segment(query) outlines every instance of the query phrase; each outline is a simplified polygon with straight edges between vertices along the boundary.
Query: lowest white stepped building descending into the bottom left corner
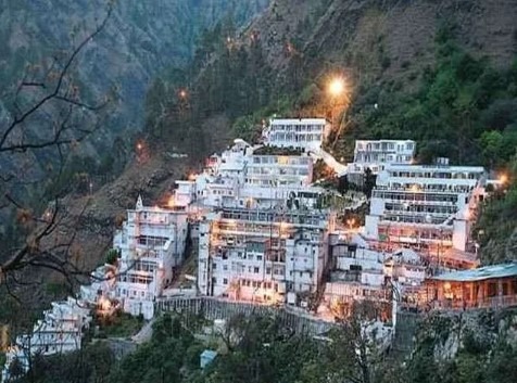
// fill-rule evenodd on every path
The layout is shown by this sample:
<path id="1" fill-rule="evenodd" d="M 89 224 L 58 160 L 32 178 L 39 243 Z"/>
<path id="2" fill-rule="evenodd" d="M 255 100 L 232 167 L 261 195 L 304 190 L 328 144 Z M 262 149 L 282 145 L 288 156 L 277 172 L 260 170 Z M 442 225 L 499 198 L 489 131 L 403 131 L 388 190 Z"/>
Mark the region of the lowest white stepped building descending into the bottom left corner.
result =
<path id="1" fill-rule="evenodd" d="M 10 367 L 17 360 L 24 372 L 37 355 L 54 355 L 80 349 L 83 332 L 91 321 L 90 310 L 84 303 L 68 297 L 53 302 L 52 309 L 43 311 L 43 318 L 34 325 L 30 334 L 20 335 L 5 354 L 2 382 L 10 378 Z"/>

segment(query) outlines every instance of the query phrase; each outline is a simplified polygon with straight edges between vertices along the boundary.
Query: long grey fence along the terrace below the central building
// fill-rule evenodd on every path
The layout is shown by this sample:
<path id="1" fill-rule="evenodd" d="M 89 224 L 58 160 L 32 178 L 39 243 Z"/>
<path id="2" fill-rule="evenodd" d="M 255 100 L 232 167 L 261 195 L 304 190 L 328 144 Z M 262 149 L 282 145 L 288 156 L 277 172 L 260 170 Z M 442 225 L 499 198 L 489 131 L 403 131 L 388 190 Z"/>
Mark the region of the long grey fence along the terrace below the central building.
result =
<path id="1" fill-rule="evenodd" d="M 317 319 L 295 308 L 265 306 L 245 302 L 235 302 L 207 296 L 176 297 L 161 299 L 155 303 L 155 312 L 175 311 L 199 315 L 210 320 L 229 319 L 236 315 L 276 316 L 283 325 L 297 332 L 319 335 L 335 324 Z"/>

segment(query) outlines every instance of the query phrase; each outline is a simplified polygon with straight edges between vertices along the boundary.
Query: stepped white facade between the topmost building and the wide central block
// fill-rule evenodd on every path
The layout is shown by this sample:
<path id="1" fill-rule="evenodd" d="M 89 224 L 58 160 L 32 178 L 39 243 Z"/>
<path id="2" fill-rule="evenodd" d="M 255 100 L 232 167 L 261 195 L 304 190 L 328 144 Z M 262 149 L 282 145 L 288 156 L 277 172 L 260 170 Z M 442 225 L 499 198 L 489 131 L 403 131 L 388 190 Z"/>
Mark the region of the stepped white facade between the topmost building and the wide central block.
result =
<path id="1" fill-rule="evenodd" d="M 317 205 L 325 191 L 311 187 L 311 156 L 255 154 L 256 149 L 236 142 L 220 156 L 209 158 L 194 186 L 177 182 L 176 196 L 185 201 L 193 197 L 206 207 L 274 208 L 285 206 L 288 200 L 294 207 Z"/>

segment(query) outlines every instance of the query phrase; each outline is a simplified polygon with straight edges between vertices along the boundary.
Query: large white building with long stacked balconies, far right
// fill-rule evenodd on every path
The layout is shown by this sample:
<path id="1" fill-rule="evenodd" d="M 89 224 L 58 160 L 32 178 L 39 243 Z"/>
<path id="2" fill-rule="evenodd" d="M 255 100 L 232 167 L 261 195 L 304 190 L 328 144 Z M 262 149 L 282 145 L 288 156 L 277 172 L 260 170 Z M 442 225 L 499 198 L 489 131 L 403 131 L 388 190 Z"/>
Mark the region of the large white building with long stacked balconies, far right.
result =
<path id="1" fill-rule="evenodd" d="M 484 169 L 474 166 L 388 165 L 377 178 L 365 235 L 427 250 L 467 251 L 476 207 L 484 196 Z"/>

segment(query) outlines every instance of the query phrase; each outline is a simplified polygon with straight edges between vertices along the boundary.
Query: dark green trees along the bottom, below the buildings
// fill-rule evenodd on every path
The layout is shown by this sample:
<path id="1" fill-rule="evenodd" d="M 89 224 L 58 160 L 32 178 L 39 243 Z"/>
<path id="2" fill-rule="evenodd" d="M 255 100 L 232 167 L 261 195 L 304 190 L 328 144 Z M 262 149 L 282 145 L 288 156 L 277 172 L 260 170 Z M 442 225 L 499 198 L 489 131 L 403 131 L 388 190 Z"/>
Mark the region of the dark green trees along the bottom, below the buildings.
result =
<path id="1" fill-rule="evenodd" d="M 37 358 L 31 373 L 15 383 L 515 382 L 517 349 L 503 336 L 467 332 L 457 354 L 439 360 L 436 347 L 450 322 L 431 318 L 421 327 L 414 354 L 401 363 L 396 355 L 378 354 L 364 336 L 360 320 L 365 312 L 356 311 L 355 319 L 323 337 L 293 333 L 274 317 L 242 316 L 228 322 L 231 331 L 224 336 L 200 337 L 201 318 L 190 318 L 187 327 L 185 317 L 166 314 L 154 323 L 151 341 L 122 359 L 98 342 L 74 354 Z M 218 355 L 201 369 L 204 349 Z"/>

